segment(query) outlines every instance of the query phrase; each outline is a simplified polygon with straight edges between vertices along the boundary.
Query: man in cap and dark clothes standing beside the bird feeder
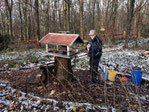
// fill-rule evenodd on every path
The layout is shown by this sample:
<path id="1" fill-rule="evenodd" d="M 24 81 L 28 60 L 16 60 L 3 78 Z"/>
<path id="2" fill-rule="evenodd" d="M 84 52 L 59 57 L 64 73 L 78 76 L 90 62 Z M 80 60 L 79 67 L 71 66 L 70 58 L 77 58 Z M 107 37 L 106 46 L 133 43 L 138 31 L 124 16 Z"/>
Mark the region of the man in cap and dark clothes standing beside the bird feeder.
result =
<path id="1" fill-rule="evenodd" d="M 102 56 L 102 40 L 97 36 L 96 30 L 90 30 L 90 39 L 87 44 L 87 50 L 90 57 L 91 82 L 96 83 L 98 65 Z"/>

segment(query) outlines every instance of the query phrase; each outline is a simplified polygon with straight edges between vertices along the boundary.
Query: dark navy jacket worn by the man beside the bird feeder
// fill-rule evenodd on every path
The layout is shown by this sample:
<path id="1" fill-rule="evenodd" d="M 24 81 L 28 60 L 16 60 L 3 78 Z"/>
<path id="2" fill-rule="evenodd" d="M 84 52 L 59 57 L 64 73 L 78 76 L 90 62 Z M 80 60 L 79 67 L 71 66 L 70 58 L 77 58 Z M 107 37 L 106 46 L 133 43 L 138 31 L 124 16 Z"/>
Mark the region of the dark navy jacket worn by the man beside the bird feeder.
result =
<path id="1" fill-rule="evenodd" d="M 102 56 L 102 40 L 96 35 L 93 40 L 89 39 L 88 44 L 91 45 L 89 56 L 91 58 L 100 58 Z"/>

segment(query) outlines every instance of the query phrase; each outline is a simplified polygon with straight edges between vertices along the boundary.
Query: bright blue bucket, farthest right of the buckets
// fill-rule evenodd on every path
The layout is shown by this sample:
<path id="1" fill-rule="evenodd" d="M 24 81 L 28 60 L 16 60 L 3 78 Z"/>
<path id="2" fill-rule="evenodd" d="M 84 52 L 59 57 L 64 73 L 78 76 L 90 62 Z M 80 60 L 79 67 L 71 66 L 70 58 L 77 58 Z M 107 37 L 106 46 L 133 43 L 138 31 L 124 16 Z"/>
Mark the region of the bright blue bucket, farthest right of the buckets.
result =
<path id="1" fill-rule="evenodd" d="M 133 69 L 131 71 L 131 83 L 140 85 L 142 82 L 142 71 L 141 69 Z"/>

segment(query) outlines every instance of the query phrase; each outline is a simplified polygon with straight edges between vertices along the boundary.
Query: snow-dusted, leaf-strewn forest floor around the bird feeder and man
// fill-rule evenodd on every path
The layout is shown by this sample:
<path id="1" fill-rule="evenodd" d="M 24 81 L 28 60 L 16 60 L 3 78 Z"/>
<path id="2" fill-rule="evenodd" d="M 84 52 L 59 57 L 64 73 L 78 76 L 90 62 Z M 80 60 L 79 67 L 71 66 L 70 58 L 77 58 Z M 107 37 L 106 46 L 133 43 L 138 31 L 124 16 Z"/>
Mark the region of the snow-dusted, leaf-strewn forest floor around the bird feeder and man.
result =
<path id="1" fill-rule="evenodd" d="M 62 84 L 50 77 L 45 87 L 34 77 L 42 73 L 39 66 L 53 61 L 44 50 L 2 52 L 0 110 L 102 112 L 111 109 L 113 112 L 149 112 L 149 39 L 140 41 L 137 48 L 132 47 L 134 41 L 129 43 L 129 49 L 122 49 L 122 45 L 105 46 L 99 66 L 123 74 L 131 74 L 132 67 L 138 66 L 142 68 L 142 77 L 146 80 L 140 86 L 132 84 L 130 77 L 121 82 L 121 75 L 117 75 L 115 81 L 111 82 L 101 79 L 100 74 L 97 84 L 91 84 L 89 59 L 85 53 L 81 53 L 72 60 L 73 75 L 77 79 L 75 82 Z"/>

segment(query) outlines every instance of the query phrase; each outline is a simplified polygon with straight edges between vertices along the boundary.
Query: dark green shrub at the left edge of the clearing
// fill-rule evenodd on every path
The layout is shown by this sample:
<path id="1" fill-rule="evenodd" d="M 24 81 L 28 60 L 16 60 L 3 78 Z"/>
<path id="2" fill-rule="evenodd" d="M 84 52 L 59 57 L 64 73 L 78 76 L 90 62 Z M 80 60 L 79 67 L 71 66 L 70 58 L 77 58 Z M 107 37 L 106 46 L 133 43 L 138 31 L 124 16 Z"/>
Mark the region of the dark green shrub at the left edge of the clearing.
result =
<path id="1" fill-rule="evenodd" d="M 10 42 L 9 35 L 0 34 L 0 50 L 7 49 L 9 42 Z"/>

